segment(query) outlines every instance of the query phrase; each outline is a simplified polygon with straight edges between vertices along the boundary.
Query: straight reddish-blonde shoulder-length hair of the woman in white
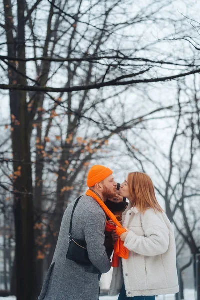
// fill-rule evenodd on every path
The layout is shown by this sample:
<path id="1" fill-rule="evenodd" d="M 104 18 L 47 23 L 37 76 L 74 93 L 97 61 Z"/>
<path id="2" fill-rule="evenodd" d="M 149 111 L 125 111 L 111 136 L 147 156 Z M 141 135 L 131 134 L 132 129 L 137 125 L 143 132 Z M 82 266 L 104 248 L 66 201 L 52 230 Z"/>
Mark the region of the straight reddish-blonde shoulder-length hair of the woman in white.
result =
<path id="1" fill-rule="evenodd" d="M 133 197 L 133 206 L 136 206 L 142 213 L 149 208 L 153 208 L 155 212 L 156 210 L 163 212 L 156 199 L 153 182 L 147 174 L 132 172 L 128 174 L 127 179 L 129 191 Z"/>

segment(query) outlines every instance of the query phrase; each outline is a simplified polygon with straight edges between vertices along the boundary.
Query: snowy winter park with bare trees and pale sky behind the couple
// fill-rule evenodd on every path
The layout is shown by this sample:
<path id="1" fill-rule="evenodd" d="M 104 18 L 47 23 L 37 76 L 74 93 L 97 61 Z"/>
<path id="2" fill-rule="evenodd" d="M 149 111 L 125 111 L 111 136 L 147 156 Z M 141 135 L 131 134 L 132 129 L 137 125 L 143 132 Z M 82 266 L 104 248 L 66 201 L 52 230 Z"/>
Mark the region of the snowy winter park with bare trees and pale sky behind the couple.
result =
<path id="1" fill-rule="evenodd" d="M 199 8 L 0 0 L 0 297 L 37 299 L 64 210 L 103 164 L 150 175 L 174 226 L 180 292 L 157 299 L 200 299 Z"/>

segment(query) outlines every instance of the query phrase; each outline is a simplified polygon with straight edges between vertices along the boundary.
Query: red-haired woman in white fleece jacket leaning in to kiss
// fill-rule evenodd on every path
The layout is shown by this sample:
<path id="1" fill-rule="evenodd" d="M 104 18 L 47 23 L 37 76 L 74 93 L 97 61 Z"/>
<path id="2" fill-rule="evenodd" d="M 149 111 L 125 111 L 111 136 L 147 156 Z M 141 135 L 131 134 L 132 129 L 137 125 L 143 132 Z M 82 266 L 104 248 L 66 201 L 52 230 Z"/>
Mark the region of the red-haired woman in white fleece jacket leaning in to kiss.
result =
<path id="1" fill-rule="evenodd" d="M 126 232 L 119 237 L 129 256 L 113 269 L 110 295 L 120 292 L 118 300 L 155 300 L 155 295 L 177 293 L 174 232 L 150 177 L 129 173 L 120 194 L 130 201 L 122 214 Z"/>

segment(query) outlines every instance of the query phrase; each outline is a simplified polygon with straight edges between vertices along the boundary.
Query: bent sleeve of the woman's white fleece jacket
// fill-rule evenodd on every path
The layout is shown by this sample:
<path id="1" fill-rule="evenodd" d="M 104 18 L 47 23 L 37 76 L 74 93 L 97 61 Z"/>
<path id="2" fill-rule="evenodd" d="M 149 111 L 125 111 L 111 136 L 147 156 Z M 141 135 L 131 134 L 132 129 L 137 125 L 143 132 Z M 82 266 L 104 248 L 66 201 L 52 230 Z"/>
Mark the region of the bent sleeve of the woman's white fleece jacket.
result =
<path id="1" fill-rule="evenodd" d="M 130 228 L 124 246 L 140 255 L 155 256 L 165 253 L 169 247 L 169 229 L 154 211 L 146 211 L 142 219 L 144 236 L 134 233 Z"/>

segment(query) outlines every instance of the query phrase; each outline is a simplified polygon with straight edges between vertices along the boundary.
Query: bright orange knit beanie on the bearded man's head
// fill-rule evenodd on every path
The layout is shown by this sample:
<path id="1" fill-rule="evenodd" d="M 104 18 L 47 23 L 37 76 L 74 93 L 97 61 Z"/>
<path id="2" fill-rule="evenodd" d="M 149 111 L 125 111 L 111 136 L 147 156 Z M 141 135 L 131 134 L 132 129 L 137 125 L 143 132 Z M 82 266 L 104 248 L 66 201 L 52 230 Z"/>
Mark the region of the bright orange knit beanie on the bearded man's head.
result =
<path id="1" fill-rule="evenodd" d="M 97 182 L 104 180 L 112 173 L 112 170 L 108 167 L 103 165 L 93 165 L 87 175 L 87 186 L 94 186 Z"/>

